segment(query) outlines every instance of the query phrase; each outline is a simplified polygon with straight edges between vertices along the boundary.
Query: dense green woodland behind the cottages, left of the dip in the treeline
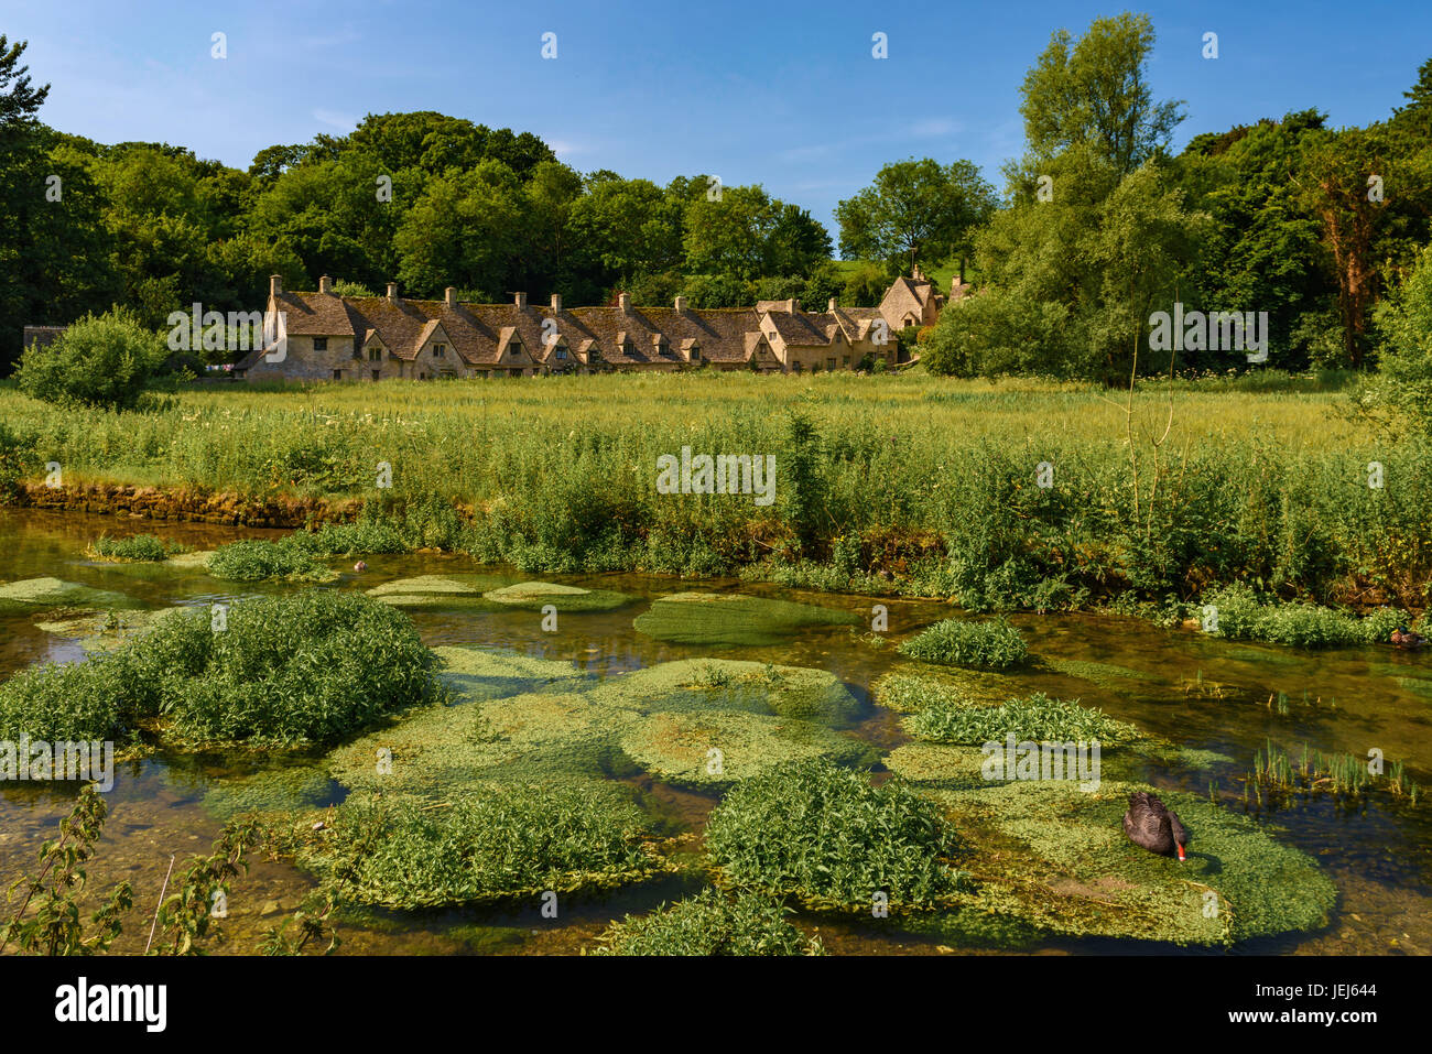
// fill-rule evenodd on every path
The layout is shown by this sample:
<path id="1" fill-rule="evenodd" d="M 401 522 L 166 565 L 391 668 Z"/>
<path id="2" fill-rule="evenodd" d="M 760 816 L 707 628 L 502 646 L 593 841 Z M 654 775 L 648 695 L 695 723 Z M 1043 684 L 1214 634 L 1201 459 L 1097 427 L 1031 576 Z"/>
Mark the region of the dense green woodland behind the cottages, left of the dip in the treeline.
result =
<path id="1" fill-rule="evenodd" d="M 26 324 L 120 306 L 160 327 L 200 301 L 262 304 L 269 274 L 344 289 L 569 304 L 687 295 L 693 306 L 835 295 L 874 302 L 831 264 L 826 229 L 760 186 L 666 186 L 580 173 L 537 136 L 441 113 L 369 115 L 347 136 L 259 150 L 246 172 L 182 146 L 96 143 L 40 123 L 47 87 L 0 37 L 0 369 Z M 884 289 L 884 286 L 881 286 Z"/>

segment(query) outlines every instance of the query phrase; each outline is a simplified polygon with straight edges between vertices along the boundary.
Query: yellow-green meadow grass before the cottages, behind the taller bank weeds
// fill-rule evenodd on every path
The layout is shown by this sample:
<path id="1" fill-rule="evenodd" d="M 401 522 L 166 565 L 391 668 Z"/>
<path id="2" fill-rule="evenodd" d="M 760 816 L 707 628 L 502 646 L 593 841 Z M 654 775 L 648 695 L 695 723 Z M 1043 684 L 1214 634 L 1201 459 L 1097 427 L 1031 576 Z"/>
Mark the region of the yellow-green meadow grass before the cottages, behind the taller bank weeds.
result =
<path id="1" fill-rule="evenodd" d="M 1224 391 L 1216 382 L 1173 394 L 1169 447 L 1220 448 L 1257 437 L 1295 451 L 1362 448 L 1335 407 L 1336 392 Z M 36 432 L 43 460 L 77 478 L 238 491 L 294 485 L 345 491 L 318 451 L 387 455 L 421 465 L 451 494 L 483 488 L 490 467 L 526 444 L 600 437 L 619 447 L 779 450 L 785 410 L 800 408 L 822 434 L 876 434 L 921 461 L 981 438 L 1038 448 L 1120 447 L 1126 395 L 1088 385 L 906 377 L 752 377 L 748 374 L 607 375 L 495 381 L 384 381 L 251 390 L 241 384 L 185 391 L 168 410 L 105 414 L 57 410 L 0 388 L 0 418 Z M 1136 418 L 1158 424 L 1169 395 L 1141 391 Z M 308 451 L 308 454 L 304 454 Z M 286 471 L 289 463 L 301 471 Z M 338 470 L 334 464 L 329 468 Z M 357 484 L 355 485 L 361 485 Z"/>

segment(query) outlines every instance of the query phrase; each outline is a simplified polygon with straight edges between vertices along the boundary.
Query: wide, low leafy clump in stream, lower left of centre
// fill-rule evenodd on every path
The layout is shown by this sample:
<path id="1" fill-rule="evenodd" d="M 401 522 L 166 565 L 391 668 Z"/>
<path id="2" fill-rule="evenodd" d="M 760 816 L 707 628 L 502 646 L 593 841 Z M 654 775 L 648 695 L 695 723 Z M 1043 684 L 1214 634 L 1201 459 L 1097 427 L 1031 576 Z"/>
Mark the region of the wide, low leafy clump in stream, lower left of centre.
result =
<path id="1" fill-rule="evenodd" d="M 351 895 L 385 908 L 497 904 L 610 889 L 662 869 L 642 812 L 603 783 L 475 783 L 441 802 L 349 798 L 298 848 L 331 878 L 364 845 Z"/>

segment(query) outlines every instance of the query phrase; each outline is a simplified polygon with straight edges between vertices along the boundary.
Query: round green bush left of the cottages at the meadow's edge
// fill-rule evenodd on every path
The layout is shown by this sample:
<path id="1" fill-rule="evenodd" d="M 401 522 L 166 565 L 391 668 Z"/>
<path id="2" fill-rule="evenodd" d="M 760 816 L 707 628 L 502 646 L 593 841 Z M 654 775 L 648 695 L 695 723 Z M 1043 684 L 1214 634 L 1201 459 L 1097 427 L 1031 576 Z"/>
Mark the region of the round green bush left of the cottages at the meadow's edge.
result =
<path id="1" fill-rule="evenodd" d="M 20 390 L 46 402 L 133 410 L 168 358 L 159 334 L 126 312 L 86 315 L 49 347 L 20 357 Z"/>

